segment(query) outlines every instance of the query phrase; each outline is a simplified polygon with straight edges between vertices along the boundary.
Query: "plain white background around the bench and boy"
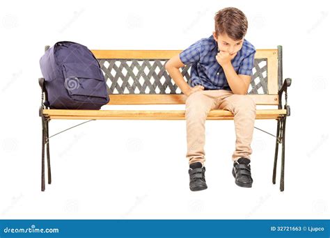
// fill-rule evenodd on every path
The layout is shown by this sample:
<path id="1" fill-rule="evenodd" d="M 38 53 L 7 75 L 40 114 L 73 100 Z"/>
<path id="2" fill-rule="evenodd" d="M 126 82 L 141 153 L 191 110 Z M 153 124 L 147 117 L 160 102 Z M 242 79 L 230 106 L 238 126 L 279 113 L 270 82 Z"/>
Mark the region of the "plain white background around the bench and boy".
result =
<path id="1" fill-rule="evenodd" d="M 1 219 L 329 219 L 327 1 L 0 4 Z M 53 184 L 40 191 L 38 77 L 45 45 L 70 40 L 89 49 L 185 49 L 210 36 L 214 14 L 228 6 L 246 14 L 246 39 L 257 49 L 283 45 L 283 76 L 292 78 L 284 192 L 279 169 L 272 184 L 275 140 L 258 130 L 251 145 L 253 188 L 235 185 L 233 121 L 206 122 L 209 188 L 191 192 L 184 120 L 98 120 L 55 136 Z M 50 135 L 78 122 L 52 120 Z M 256 127 L 276 133 L 275 120 L 257 120 Z"/>

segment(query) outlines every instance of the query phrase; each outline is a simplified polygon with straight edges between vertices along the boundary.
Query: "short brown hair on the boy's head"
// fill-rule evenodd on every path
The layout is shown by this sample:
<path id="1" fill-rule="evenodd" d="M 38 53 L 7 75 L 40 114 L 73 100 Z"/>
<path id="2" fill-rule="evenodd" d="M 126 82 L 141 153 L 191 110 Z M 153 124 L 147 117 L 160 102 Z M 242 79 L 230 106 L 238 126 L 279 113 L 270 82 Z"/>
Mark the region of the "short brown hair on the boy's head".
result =
<path id="1" fill-rule="evenodd" d="M 233 40 L 244 38 L 248 28 L 246 16 L 237 8 L 223 8 L 215 17 L 215 33 L 217 35 L 226 33 Z"/>

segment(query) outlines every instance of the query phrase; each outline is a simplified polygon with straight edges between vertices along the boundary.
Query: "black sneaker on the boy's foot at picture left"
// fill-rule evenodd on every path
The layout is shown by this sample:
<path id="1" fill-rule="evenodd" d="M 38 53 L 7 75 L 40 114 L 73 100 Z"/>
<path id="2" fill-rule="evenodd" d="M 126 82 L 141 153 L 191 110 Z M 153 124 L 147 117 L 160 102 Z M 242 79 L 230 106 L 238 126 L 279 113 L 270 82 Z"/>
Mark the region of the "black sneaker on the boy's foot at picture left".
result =
<path id="1" fill-rule="evenodd" d="M 191 191 L 201 191 L 207 189 L 205 182 L 205 167 L 201 164 L 201 162 L 196 162 L 189 165 L 189 176 L 189 187 Z"/>

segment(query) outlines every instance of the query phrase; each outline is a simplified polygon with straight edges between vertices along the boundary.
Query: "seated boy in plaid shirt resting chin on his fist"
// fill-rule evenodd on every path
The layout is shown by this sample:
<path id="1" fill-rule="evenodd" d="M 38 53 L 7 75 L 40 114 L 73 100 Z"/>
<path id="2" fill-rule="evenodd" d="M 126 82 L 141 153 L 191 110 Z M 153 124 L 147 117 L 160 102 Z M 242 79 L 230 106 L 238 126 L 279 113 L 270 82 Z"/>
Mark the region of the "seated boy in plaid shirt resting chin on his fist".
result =
<path id="1" fill-rule="evenodd" d="M 205 119 L 213 109 L 234 114 L 236 144 L 233 176 L 239 187 L 252 187 L 250 155 L 256 103 L 247 90 L 256 49 L 244 39 L 248 22 L 237 8 L 223 8 L 215 17 L 215 31 L 173 56 L 166 70 L 187 96 L 187 159 L 191 191 L 207 189 L 205 182 Z M 191 63 L 191 85 L 180 68 Z M 223 138 L 224 139 L 224 138 Z M 220 145 L 221 146 L 221 145 Z"/>

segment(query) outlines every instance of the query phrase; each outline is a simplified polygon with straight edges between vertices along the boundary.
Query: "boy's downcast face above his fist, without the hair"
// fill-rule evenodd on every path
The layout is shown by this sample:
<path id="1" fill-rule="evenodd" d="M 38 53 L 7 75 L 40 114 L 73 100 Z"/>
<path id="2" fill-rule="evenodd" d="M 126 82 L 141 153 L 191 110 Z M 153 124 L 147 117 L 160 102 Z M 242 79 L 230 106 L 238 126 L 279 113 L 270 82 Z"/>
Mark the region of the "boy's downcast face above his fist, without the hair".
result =
<path id="1" fill-rule="evenodd" d="M 215 31 L 213 32 L 213 38 L 218 42 L 218 51 L 226 51 L 230 55 L 237 53 L 243 46 L 243 40 L 232 40 L 226 33 L 216 35 Z"/>

